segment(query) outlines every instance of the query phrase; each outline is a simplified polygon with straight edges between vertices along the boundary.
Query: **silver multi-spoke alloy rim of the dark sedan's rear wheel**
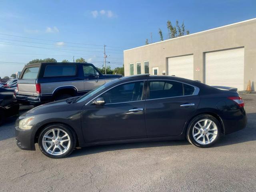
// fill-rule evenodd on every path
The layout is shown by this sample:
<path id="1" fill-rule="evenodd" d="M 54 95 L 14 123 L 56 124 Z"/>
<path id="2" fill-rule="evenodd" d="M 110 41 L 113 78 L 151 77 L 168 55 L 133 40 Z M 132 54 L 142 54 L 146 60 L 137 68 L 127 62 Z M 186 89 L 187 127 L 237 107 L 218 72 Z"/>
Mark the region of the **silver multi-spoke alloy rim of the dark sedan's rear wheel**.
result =
<path id="1" fill-rule="evenodd" d="M 196 142 L 207 145 L 216 139 L 218 128 L 212 120 L 202 119 L 194 125 L 192 134 Z"/>

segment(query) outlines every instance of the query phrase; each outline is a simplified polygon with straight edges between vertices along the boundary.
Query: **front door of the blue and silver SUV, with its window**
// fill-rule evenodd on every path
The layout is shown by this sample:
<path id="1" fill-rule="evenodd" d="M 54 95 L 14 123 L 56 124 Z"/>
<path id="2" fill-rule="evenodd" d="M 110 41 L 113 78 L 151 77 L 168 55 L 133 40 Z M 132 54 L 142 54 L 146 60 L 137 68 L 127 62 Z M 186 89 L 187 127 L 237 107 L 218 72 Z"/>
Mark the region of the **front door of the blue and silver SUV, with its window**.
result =
<path id="1" fill-rule="evenodd" d="M 97 71 L 91 65 L 84 65 L 84 91 L 90 91 L 105 83 L 104 78 L 98 77 Z"/>

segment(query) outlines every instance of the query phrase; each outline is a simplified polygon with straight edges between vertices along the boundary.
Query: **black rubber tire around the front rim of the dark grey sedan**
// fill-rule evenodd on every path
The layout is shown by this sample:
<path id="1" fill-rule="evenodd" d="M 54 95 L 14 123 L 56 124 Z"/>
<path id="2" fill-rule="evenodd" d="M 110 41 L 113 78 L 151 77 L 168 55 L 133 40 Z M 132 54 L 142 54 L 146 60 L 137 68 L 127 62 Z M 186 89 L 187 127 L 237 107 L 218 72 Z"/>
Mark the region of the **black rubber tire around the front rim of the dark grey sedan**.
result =
<path id="1" fill-rule="evenodd" d="M 60 155 L 52 155 L 52 154 L 49 154 L 48 152 L 46 152 L 46 150 L 44 149 L 43 147 L 43 136 L 46 132 L 48 132 L 49 130 L 51 129 L 60 129 L 60 130 L 64 130 L 69 138 L 70 138 L 70 147 L 68 148 L 68 150 L 66 150 L 66 152 L 64 152 L 64 154 L 60 154 Z M 68 155 L 70 155 L 72 153 L 72 151 L 74 150 L 74 148 L 76 147 L 76 136 L 75 136 L 75 133 L 66 125 L 63 125 L 63 124 L 51 124 L 51 125 L 48 125 L 46 126 L 39 134 L 38 136 L 38 145 L 39 145 L 39 148 L 41 150 L 41 152 L 50 157 L 50 158 L 54 158 L 54 159 L 59 159 L 59 158 L 64 158 Z M 53 145 L 54 146 L 54 145 Z"/>

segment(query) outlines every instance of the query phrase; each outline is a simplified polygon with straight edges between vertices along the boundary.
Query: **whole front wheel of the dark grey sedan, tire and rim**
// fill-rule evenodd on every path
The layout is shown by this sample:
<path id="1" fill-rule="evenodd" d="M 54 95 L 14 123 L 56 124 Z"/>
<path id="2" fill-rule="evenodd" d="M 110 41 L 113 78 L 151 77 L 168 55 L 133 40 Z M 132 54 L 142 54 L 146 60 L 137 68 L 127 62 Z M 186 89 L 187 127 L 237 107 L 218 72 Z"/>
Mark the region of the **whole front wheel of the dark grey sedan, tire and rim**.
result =
<path id="1" fill-rule="evenodd" d="M 50 158 L 63 158 L 74 150 L 76 139 L 68 126 L 53 124 L 40 132 L 38 145 L 44 155 Z"/>

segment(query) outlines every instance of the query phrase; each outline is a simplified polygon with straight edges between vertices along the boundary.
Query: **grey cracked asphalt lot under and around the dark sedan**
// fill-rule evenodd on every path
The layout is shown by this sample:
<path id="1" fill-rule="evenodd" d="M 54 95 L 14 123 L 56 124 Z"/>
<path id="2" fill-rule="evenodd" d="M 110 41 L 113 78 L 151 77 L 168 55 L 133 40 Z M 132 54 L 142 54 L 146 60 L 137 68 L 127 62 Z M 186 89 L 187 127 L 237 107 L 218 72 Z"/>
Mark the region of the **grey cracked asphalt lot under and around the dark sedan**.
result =
<path id="1" fill-rule="evenodd" d="M 14 121 L 0 126 L 0 191 L 256 191 L 256 94 L 242 95 L 248 124 L 212 148 L 182 141 L 93 146 L 51 159 L 20 150 Z"/>

